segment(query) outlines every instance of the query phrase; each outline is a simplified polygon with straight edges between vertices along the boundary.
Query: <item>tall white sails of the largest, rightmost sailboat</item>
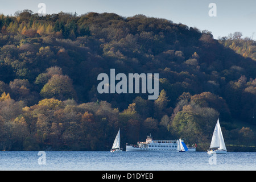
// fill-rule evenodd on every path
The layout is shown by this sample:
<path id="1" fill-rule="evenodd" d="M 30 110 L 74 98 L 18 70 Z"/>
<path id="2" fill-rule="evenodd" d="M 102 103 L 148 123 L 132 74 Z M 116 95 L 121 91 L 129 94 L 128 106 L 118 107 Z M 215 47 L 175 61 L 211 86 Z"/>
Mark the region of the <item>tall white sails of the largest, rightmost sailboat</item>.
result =
<path id="1" fill-rule="evenodd" d="M 226 150 L 224 138 L 222 135 L 219 119 L 212 135 L 212 142 L 210 143 L 210 148 L 218 148 L 219 150 Z"/>

